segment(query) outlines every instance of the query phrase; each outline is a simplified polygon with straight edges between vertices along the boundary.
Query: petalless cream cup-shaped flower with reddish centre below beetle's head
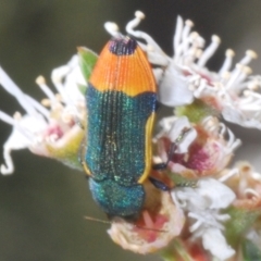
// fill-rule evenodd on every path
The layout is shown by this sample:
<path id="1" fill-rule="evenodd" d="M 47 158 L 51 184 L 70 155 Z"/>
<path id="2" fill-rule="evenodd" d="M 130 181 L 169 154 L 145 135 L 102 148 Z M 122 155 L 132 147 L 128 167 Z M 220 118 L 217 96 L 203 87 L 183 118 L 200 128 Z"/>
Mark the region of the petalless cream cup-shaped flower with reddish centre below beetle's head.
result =
<path id="1" fill-rule="evenodd" d="M 152 187 L 152 190 L 154 189 Z M 156 198 L 152 197 L 153 203 L 158 200 L 161 202 L 157 211 L 154 207 L 151 209 L 152 212 L 150 209 L 145 209 L 138 220 L 133 222 L 121 217 L 112 220 L 112 226 L 108 233 L 114 243 L 124 249 L 146 254 L 167 247 L 170 241 L 181 234 L 185 224 L 183 210 L 173 203 L 169 192 L 160 191 L 159 195 L 158 191 L 157 194 Z M 138 224 L 144 225 L 139 227 Z M 162 232 L 159 233 L 159 231 Z"/>

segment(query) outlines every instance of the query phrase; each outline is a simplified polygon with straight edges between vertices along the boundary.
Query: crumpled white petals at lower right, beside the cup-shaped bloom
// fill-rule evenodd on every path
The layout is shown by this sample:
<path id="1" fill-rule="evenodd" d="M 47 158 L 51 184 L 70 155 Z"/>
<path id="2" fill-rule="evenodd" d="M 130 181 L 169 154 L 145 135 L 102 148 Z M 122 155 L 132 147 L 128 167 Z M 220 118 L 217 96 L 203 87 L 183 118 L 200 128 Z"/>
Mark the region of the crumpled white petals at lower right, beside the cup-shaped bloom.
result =
<path id="1" fill-rule="evenodd" d="M 231 206 L 236 198 L 227 186 L 213 178 L 201 178 L 196 188 L 173 189 L 172 197 L 176 204 L 188 212 L 191 239 L 201 237 L 204 249 L 221 260 L 235 253 L 222 234 L 222 223 L 229 215 L 222 214 L 221 210 Z"/>

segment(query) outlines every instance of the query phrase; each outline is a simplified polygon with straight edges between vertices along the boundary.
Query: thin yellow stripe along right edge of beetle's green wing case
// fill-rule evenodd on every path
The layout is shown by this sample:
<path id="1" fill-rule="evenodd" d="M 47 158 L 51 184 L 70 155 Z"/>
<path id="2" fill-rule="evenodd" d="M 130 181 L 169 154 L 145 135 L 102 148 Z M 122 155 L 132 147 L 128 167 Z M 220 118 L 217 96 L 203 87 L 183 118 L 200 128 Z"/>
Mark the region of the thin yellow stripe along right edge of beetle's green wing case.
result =
<path id="1" fill-rule="evenodd" d="M 150 115 L 150 117 L 148 119 L 147 123 L 146 123 L 146 130 L 145 130 L 145 136 L 146 136 L 146 140 L 145 140 L 145 171 L 144 174 L 140 176 L 140 178 L 138 179 L 138 184 L 142 184 L 150 171 L 151 171 L 151 161 L 152 161 L 152 128 L 153 128 L 153 123 L 154 123 L 154 112 L 152 112 L 152 114 Z"/>

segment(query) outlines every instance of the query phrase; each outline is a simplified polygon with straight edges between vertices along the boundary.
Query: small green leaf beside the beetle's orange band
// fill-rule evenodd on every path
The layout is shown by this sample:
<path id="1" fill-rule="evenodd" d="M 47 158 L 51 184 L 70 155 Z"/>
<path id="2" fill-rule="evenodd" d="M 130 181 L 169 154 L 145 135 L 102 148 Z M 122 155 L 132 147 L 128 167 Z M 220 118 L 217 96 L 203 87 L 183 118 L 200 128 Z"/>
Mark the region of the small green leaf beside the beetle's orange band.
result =
<path id="1" fill-rule="evenodd" d="M 94 70 L 94 66 L 98 60 L 97 53 L 91 51 L 86 47 L 78 47 L 78 57 L 79 57 L 79 67 L 86 79 L 89 80 L 90 74 Z"/>

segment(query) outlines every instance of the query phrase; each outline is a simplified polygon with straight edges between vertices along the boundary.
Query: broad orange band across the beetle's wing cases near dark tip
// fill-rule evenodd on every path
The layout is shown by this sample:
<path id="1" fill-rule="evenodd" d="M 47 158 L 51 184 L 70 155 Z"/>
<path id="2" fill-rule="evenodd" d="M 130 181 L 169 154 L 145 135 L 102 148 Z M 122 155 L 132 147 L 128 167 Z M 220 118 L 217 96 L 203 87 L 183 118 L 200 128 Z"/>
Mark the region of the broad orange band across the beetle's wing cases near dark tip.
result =
<path id="1" fill-rule="evenodd" d="M 130 97 L 145 91 L 156 92 L 154 75 L 139 46 L 133 54 L 116 55 L 109 51 L 107 45 L 89 83 L 99 91 L 117 90 Z"/>

